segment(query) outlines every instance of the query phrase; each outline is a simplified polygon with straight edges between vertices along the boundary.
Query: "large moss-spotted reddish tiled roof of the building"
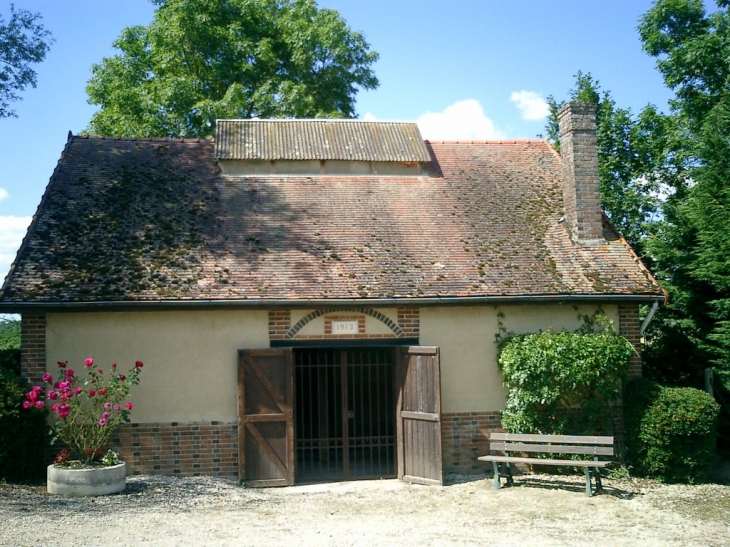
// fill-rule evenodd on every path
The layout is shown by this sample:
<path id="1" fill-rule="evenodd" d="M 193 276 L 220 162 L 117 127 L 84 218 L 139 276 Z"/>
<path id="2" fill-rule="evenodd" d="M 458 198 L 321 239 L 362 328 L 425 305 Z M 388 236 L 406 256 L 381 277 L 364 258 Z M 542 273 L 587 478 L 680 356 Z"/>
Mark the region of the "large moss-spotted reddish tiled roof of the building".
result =
<path id="1" fill-rule="evenodd" d="M 72 138 L 5 302 L 659 294 L 575 244 L 542 141 L 431 143 L 429 176 L 226 177 L 211 141 Z"/>

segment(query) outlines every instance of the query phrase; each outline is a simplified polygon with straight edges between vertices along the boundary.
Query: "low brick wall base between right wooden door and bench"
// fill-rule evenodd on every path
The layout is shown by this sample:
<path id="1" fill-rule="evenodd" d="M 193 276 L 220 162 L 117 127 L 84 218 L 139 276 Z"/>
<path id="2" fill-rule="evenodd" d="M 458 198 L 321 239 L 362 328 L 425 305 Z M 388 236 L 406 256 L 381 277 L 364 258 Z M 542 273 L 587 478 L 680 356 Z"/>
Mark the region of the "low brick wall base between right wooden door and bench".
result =
<path id="1" fill-rule="evenodd" d="M 441 415 L 441 448 L 444 473 L 484 473 L 487 466 L 477 461 L 489 454 L 487 434 L 501 430 L 499 411 L 456 412 Z"/>

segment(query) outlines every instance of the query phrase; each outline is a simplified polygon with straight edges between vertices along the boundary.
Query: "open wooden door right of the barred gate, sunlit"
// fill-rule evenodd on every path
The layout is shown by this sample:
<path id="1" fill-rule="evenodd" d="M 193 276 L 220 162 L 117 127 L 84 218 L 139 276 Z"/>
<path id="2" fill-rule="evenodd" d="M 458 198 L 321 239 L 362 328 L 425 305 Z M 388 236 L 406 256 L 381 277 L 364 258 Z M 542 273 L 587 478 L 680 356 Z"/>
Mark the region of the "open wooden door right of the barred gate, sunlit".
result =
<path id="1" fill-rule="evenodd" d="M 440 485 L 443 470 L 438 348 L 400 348 L 397 371 L 398 478 Z"/>

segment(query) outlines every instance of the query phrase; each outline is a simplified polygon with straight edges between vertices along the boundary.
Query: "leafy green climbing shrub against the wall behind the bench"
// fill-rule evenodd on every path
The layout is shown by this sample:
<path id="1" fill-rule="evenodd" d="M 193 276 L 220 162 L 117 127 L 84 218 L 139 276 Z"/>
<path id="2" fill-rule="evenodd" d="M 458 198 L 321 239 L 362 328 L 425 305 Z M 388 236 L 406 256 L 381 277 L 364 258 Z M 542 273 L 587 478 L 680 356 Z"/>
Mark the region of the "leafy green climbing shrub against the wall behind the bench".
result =
<path id="1" fill-rule="evenodd" d="M 514 336 L 499 354 L 509 388 L 502 424 L 513 433 L 613 432 L 612 402 L 620 395 L 634 348 L 609 329 Z"/>

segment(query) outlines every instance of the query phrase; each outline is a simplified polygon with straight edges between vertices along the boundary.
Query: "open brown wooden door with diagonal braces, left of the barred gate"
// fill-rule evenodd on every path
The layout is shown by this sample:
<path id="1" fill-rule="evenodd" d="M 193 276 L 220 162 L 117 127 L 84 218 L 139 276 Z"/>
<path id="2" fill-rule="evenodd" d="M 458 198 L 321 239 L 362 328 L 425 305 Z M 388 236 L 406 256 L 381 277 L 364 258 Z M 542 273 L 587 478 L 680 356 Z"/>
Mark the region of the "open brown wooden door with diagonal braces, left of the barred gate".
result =
<path id="1" fill-rule="evenodd" d="M 292 350 L 238 355 L 238 476 L 247 486 L 294 484 Z"/>

